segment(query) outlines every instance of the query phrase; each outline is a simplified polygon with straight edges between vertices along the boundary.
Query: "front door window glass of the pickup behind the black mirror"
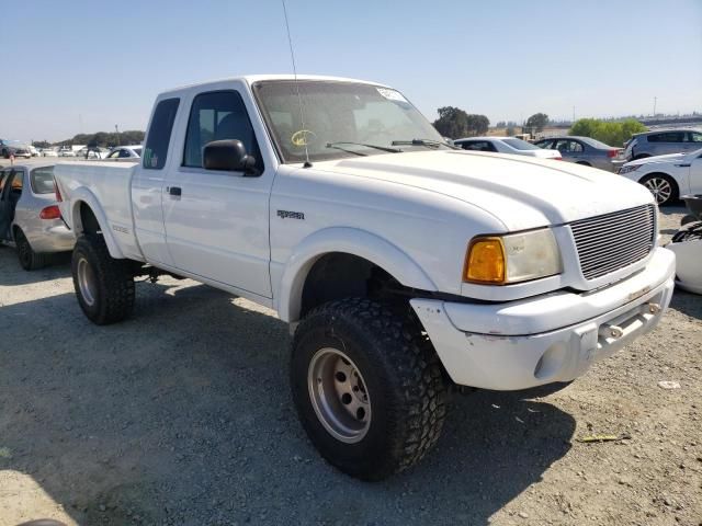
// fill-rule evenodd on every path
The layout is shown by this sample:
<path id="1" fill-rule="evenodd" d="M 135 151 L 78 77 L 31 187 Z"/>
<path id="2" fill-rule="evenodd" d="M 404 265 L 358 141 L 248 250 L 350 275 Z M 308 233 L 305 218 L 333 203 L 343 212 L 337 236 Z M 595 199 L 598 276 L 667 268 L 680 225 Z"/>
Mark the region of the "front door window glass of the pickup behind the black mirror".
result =
<path id="1" fill-rule="evenodd" d="M 256 158 L 259 173 L 263 163 L 253 127 L 241 95 L 236 91 L 201 93 L 193 100 L 183 151 L 183 167 L 202 168 L 202 151 L 213 140 L 237 139 Z"/>

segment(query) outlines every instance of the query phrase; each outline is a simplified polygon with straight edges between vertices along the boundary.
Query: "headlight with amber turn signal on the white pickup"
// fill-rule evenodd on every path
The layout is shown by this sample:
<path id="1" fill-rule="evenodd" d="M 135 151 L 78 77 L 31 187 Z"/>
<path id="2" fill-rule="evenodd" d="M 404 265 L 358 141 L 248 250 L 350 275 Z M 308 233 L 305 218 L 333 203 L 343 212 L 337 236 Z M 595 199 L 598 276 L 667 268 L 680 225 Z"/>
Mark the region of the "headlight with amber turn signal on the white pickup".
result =
<path id="1" fill-rule="evenodd" d="M 562 271 L 556 238 L 550 228 L 544 228 L 474 238 L 465 258 L 463 281 L 503 285 L 553 276 Z"/>

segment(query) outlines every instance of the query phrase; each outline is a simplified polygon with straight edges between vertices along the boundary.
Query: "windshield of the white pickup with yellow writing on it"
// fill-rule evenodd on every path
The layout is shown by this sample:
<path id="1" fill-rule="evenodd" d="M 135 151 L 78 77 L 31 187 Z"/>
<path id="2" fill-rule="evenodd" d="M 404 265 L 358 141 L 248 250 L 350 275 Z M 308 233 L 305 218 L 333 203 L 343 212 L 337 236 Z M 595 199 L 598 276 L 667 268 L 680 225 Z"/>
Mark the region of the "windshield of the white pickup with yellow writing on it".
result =
<path id="1" fill-rule="evenodd" d="M 253 91 L 283 162 L 304 162 L 305 146 L 312 161 L 451 148 L 415 106 L 388 88 L 301 80 L 304 126 L 294 81 L 257 82 Z M 412 144 L 416 139 L 424 141 Z"/>

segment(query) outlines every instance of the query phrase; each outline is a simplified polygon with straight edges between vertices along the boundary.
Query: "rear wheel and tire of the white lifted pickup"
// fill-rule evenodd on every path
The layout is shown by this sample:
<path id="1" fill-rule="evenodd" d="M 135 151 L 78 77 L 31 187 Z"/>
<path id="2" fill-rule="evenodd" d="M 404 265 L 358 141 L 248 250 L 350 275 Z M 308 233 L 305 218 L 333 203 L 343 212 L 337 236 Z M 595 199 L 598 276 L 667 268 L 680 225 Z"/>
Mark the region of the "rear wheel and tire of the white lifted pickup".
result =
<path id="1" fill-rule="evenodd" d="M 78 304 L 90 321 L 104 325 L 132 313 L 134 276 L 129 262 L 112 258 L 101 235 L 78 238 L 71 271 Z"/>

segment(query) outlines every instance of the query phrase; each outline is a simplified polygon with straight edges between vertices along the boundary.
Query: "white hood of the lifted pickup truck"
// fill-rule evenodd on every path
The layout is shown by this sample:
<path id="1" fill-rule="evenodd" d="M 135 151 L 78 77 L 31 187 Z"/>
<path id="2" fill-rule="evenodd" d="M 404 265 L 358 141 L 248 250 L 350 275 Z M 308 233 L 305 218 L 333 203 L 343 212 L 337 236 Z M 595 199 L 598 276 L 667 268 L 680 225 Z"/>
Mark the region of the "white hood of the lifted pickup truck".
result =
<path id="1" fill-rule="evenodd" d="M 313 170 L 411 186 L 482 208 L 516 231 L 623 210 L 653 197 L 644 186 L 578 164 L 455 150 L 315 162 Z M 397 190 L 389 190 L 395 194 Z"/>

